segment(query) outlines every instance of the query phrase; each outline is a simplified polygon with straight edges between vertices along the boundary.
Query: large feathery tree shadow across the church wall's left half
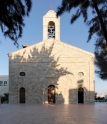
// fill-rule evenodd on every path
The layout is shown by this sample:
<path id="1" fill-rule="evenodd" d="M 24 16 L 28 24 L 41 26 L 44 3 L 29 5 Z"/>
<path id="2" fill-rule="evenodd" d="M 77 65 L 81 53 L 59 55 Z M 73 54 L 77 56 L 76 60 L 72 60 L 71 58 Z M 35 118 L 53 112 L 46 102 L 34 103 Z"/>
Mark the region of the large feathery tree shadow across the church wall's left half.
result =
<path id="1" fill-rule="evenodd" d="M 45 43 L 39 46 L 34 45 L 24 48 L 22 52 L 21 56 L 20 54 L 15 56 L 14 62 L 19 63 L 17 73 L 22 70 L 26 74 L 23 77 L 23 87 L 27 90 L 27 102 L 44 103 L 48 101 L 51 94 L 52 99 L 55 96 L 55 103 L 64 103 L 63 95 L 61 93 L 58 95 L 58 81 L 60 77 L 72 75 L 72 73 L 60 63 L 60 56 L 55 52 L 54 43 L 50 46 Z M 53 93 L 48 92 L 50 85 L 55 86 Z"/>

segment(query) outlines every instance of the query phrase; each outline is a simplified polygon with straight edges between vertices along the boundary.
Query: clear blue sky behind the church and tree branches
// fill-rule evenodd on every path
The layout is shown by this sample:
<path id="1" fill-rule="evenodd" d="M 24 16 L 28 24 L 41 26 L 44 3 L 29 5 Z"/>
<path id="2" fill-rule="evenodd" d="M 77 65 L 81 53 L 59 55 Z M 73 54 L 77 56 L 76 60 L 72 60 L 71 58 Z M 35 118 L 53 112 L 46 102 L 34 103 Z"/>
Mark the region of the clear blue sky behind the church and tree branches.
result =
<path id="1" fill-rule="evenodd" d="M 56 11 L 62 0 L 32 0 L 33 6 L 30 16 L 25 18 L 25 27 L 23 36 L 18 40 L 19 49 L 22 45 L 32 45 L 42 41 L 42 19 L 50 10 L 50 4 Z M 74 12 L 74 10 L 73 10 Z M 70 24 L 70 18 L 73 12 L 64 13 L 60 17 L 60 39 L 63 42 L 76 46 L 78 48 L 94 52 L 95 36 L 87 43 L 88 27 L 83 23 L 83 19 L 78 19 L 73 25 Z M 90 14 L 91 15 L 91 14 Z M 18 50 L 13 41 L 5 38 L 0 31 L 0 75 L 8 75 L 8 53 Z M 95 75 L 95 91 L 98 94 L 107 92 L 107 81 L 103 81 Z"/>

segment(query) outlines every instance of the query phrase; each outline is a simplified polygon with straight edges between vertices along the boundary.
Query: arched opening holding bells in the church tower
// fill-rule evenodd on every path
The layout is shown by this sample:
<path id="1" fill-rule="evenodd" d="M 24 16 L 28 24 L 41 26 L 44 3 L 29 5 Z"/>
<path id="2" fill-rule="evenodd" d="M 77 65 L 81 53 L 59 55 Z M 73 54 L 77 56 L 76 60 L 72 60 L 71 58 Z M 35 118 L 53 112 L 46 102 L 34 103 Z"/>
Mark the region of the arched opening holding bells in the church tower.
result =
<path id="1" fill-rule="evenodd" d="M 48 23 L 48 39 L 49 38 L 55 38 L 55 23 L 53 21 Z"/>

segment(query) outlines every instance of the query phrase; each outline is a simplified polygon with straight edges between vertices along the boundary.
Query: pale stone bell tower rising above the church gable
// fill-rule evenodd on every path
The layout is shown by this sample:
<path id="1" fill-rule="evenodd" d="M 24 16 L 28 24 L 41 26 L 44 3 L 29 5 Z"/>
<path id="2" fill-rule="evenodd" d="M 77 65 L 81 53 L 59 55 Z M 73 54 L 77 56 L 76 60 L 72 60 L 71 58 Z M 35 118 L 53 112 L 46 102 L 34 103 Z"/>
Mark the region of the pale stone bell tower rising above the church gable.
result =
<path id="1" fill-rule="evenodd" d="M 53 10 L 43 16 L 43 40 L 50 38 L 60 40 L 60 17 L 57 18 Z"/>

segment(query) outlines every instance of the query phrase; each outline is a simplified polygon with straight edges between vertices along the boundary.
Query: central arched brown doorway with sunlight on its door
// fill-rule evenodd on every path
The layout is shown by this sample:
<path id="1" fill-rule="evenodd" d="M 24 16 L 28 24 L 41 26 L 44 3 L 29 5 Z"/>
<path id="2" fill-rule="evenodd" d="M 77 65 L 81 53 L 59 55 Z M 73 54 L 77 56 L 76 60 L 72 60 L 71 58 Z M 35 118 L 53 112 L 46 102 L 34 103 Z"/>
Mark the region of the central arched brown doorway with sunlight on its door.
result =
<path id="1" fill-rule="evenodd" d="M 55 103 L 55 86 L 54 85 L 48 86 L 48 103 L 49 104 Z"/>

